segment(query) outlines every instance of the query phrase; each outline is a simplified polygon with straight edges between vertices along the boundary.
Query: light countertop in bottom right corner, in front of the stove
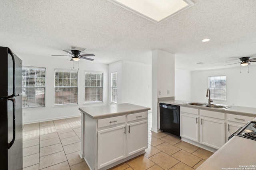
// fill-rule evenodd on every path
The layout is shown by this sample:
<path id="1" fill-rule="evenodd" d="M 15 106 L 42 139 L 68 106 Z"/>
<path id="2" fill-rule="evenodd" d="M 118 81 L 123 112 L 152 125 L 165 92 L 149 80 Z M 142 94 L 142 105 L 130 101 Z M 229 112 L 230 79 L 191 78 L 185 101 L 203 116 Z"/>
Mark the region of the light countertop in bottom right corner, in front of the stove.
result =
<path id="1" fill-rule="evenodd" d="M 196 170 L 256 169 L 256 141 L 234 136 Z M 251 166 L 251 167 L 250 167 Z M 253 167 L 254 166 L 254 167 Z"/>

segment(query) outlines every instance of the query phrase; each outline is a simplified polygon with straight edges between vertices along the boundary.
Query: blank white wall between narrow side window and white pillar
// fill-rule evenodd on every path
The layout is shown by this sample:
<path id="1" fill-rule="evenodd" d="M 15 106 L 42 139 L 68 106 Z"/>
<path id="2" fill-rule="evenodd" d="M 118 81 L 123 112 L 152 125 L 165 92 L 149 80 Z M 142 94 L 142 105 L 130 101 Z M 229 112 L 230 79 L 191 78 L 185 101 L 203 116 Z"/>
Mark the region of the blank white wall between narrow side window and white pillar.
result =
<path id="1" fill-rule="evenodd" d="M 122 103 L 151 107 L 151 65 L 122 62 Z"/>

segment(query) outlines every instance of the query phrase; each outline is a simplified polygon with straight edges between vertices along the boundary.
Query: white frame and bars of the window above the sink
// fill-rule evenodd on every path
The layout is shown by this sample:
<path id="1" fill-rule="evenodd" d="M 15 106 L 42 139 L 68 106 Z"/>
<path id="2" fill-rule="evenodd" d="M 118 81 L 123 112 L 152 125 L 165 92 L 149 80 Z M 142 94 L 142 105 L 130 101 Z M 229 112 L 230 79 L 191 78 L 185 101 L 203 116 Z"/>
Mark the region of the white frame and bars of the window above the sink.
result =
<path id="1" fill-rule="evenodd" d="M 210 78 L 216 79 L 216 77 L 219 77 L 220 81 L 221 81 L 221 77 L 225 77 L 225 87 L 210 87 Z M 215 80 L 214 80 L 214 84 L 215 84 Z M 220 101 L 226 101 L 227 99 L 227 85 L 226 85 L 226 76 L 208 76 L 208 88 L 210 89 L 210 96 L 212 100 L 220 100 Z M 216 90 L 215 89 L 219 89 L 219 93 L 214 93 Z M 225 93 L 221 93 L 220 89 L 225 89 Z M 214 98 L 214 96 L 220 96 L 219 98 Z M 221 98 L 221 96 L 224 96 L 224 98 Z"/>

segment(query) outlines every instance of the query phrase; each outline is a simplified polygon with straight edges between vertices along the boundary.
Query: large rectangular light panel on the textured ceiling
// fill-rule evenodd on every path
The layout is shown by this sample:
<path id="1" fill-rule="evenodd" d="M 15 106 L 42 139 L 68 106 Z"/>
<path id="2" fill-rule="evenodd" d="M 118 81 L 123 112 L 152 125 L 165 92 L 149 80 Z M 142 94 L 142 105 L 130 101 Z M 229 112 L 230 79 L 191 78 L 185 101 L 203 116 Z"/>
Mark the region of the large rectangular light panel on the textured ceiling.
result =
<path id="1" fill-rule="evenodd" d="M 109 0 L 150 21 L 159 23 L 194 5 L 190 0 Z"/>

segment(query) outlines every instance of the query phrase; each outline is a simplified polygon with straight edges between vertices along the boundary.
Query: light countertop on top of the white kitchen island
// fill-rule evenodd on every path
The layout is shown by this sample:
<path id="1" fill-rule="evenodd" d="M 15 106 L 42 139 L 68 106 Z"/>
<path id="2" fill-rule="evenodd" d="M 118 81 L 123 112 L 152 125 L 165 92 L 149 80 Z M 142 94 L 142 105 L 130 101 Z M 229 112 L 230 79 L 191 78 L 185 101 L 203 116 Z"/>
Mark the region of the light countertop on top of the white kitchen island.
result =
<path id="1" fill-rule="evenodd" d="M 130 113 L 138 113 L 150 110 L 149 107 L 134 104 L 111 104 L 104 106 L 80 107 L 79 110 L 90 116 L 92 119 L 102 119 L 113 116 L 120 116 Z"/>

